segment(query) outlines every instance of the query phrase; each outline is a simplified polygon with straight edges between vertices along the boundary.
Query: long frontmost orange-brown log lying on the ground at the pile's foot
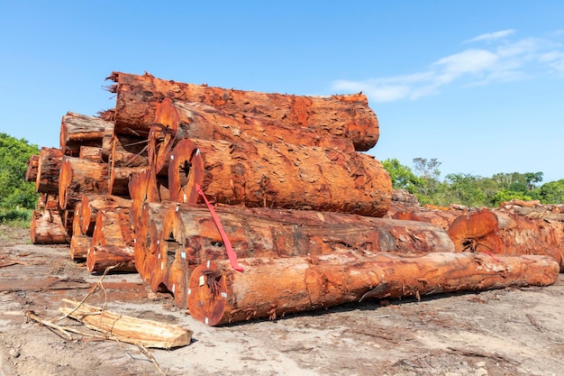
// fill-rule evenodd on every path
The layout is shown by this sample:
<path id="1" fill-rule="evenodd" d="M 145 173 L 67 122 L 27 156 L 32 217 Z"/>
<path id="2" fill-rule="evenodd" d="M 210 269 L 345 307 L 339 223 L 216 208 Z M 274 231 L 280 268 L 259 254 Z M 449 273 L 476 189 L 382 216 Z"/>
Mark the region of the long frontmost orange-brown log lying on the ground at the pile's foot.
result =
<path id="1" fill-rule="evenodd" d="M 546 256 L 498 256 L 435 252 L 398 255 L 359 252 L 319 257 L 242 259 L 200 265 L 189 280 L 190 315 L 215 326 L 271 319 L 287 313 L 332 307 L 365 298 L 423 297 L 450 291 L 547 286 L 558 264 Z"/>

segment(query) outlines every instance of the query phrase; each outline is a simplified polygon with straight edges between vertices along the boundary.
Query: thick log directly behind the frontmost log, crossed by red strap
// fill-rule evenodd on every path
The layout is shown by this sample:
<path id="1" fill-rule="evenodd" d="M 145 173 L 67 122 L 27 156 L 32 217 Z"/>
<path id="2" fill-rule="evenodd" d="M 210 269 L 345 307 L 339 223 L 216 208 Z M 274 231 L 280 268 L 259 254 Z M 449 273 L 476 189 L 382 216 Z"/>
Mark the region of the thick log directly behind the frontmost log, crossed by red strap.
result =
<path id="1" fill-rule="evenodd" d="M 208 260 L 226 259 L 223 239 L 206 206 L 145 204 L 150 215 L 163 216 L 159 253 L 145 249 L 145 268 L 152 270 L 151 289 L 164 286 L 186 307 L 186 280 L 191 270 Z M 238 257 L 320 255 L 338 249 L 363 252 L 454 252 L 446 232 L 414 221 L 339 213 L 217 206 L 223 229 Z M 152 235 L 152 234 L 151 234 Z M 151 265 L 150 262 L 153 262 Z"/>

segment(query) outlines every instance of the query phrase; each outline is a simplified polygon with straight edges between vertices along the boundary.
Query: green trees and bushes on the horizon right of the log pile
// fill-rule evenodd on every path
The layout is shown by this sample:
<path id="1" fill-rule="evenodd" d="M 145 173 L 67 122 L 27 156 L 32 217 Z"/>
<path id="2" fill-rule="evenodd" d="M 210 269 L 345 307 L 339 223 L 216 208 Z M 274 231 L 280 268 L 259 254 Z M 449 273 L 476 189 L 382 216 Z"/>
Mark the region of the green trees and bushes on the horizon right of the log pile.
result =
<path id="1" fill-rule="evenodd" d="M 498 173 L 491 178 L 459 173 L 441 180 L 441 162 L 434 158 L 415 158 L 414 170 L 396 159 L 383 160 L 382 165 L 390 174 L 393 187 L 413 193 L 422 205 L 497 207 L 512 198 L 564 204 L 564 179 L 540 185 L 542 172 Z"/>

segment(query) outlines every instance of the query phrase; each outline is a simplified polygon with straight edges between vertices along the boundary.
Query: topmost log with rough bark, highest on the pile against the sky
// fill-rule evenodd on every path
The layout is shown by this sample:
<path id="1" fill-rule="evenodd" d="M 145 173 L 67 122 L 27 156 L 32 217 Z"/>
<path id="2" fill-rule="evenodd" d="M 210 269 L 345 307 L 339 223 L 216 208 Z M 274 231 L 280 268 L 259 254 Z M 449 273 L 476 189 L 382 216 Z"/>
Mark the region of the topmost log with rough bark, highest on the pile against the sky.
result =
<path id="1" fill-rule="evenodd" d="M 368 151 L 378 142 L 378 118 L 362 94 L 295 96 L 259 93 L 184 84 L 114 72 L 116 85 L 115 132 L 147 136 L 157 105 L 169 97 L 183 103 L 217 108 L 223 114 L 252 116 L 287 127 L 305 127 L 350 139 L 357 151 Z"/>

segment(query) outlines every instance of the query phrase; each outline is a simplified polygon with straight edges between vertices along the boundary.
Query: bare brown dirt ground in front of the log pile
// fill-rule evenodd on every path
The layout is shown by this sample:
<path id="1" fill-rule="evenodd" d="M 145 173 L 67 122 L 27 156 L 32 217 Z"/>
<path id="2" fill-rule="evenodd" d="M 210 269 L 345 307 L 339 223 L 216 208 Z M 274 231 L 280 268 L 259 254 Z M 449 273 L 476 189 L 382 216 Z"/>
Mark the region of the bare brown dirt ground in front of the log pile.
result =
<path id="1" fill-rule="evenodd" d="M 24 316 L 60 316 L 100 280 L 66 246 L 30 244 L 0 226 L 0 376 L 76 375 L 562 375 L 564 277 L 547 288 L 371 301 L 272 321 L 210 327 L 150 291 L 137 274 L 105 276 L 87 303 L 184 326 L 191 344 L 150 349 L 65 340 Z M 59 325 L 83 326 L 66 318 Z"/>

